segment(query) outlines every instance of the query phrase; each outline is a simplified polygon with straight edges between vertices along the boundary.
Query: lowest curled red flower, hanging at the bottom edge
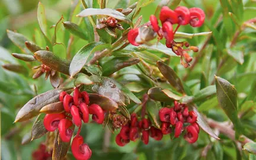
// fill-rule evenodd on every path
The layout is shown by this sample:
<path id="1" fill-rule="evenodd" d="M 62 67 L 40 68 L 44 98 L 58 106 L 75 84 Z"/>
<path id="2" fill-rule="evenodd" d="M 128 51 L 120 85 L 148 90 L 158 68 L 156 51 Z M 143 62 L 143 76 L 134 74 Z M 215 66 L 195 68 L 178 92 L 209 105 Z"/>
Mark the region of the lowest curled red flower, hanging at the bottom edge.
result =
<path id="1" fill-rule="evenodd" d="M 82 136 L 75 136 L 73 138 L 71 151 L 76 159 L 89 159 L 92 155 L 91 149 L 87 143 L 84 143 Z"/>

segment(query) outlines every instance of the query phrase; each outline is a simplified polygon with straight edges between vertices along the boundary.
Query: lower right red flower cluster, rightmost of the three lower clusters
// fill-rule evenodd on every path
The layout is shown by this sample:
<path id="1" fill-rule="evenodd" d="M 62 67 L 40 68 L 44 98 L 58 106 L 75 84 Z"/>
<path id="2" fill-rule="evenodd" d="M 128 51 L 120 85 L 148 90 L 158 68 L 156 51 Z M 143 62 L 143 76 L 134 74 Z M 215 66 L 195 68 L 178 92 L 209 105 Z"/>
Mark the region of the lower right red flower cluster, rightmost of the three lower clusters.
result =
<path id="1" fill-rule="evenodd" d="M 180 104 L 174 101 L 174 107 L 164 107 L 159 110 L 159 117 L 162 121 L 162 133 L 167 135 L 174 129 L 174 137 L 179 137 L 184 130 L 187 133 L 184 139 L 189 143 L 194 143 L 199 137 L 199 125 L 196 123 L 197 114 L 194 111 L 188 111 L 185 104 Z M 190 123 L 189 126 L 184 126 L 184 123 Z"/>

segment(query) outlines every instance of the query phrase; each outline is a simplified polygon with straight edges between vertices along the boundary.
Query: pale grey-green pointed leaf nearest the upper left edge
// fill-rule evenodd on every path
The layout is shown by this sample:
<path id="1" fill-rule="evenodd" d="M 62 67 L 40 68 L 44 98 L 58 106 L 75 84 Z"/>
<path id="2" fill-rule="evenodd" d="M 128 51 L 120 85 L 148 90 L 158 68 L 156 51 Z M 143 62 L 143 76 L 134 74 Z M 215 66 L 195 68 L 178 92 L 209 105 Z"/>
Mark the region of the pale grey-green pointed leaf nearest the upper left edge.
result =
<path id="1" fill-rule="evenodd" d="M 7 36 L 22 52 L 31 54 L 30 50 L 25 46 L 25 41 L 28 41 L 28 39 L 23 34 L 7 30 Z"/>

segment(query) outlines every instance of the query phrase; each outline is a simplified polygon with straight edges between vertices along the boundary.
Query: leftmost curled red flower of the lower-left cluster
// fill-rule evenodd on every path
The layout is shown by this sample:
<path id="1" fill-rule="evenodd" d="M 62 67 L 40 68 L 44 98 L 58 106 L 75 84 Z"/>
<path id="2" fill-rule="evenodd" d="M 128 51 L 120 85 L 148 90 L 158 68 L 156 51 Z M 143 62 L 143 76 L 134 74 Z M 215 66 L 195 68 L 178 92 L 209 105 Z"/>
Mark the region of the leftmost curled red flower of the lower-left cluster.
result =
<path id="1" fill-rule="evenodd" d="M 60 114 L 46 114 L 46 116 L 44 117 L 44 127 L 46 128 L 46 130 L 48 130 L 49 132 L 53 132 L 55 131 L 55 129 L 57 129 L 58 125 L 59 125 L 59 121 L 62 119 L 65 119 L 65 114 L 60 113 Z"/>

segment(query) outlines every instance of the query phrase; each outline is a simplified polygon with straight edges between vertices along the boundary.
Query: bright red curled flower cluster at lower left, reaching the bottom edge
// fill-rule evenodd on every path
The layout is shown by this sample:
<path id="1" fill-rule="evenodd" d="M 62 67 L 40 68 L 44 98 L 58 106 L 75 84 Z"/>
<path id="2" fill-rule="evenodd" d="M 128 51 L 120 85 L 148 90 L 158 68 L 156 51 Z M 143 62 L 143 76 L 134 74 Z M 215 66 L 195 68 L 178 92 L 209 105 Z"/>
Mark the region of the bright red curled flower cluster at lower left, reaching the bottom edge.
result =
<path id="1" fill-rule="evenodd" d="M 91 149 L 87 143 L 84 143 L 84 139 L 80 136 L 82 127 L 82 120 L 84 123 L 88 123 L 89 114 L 92 114 L 92 120 L 102 124 L 104 121 L 104 111 L 97 104 L 89 105 L 88 93 L 83 91 L 79 92 L 78 88 L 73 91 L 73 97 L 67 92 L 61 92 L 59 100 L 63 101 L 64 113 L 46 114 L 44 117 L 44 127 L 53 132 L 59 129 L 59 135 L 63 142 L 70 142 L 73 130 L 71 127 L 73 124 L 78 126 L 78 132 L 73 138 L 71 150 L 76 159 L 89 159 L 91 157 Z M 89 107 L 88 107 L 89 105 Z"/>

